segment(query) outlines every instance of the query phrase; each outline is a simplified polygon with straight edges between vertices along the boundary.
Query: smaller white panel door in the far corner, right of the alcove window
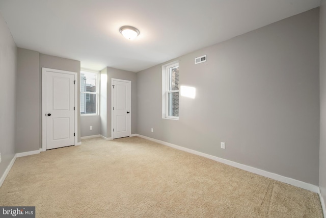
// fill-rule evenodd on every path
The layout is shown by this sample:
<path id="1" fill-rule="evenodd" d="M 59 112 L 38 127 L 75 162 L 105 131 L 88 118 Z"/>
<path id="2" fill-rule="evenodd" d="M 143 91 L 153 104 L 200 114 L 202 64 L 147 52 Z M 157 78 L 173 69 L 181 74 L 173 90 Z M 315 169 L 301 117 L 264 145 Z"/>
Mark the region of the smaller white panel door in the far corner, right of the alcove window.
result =
<path id="1" fill-rule="evenodd" d="M 131 81 L 112 79 L 113 139 L 131 134 Z"/>

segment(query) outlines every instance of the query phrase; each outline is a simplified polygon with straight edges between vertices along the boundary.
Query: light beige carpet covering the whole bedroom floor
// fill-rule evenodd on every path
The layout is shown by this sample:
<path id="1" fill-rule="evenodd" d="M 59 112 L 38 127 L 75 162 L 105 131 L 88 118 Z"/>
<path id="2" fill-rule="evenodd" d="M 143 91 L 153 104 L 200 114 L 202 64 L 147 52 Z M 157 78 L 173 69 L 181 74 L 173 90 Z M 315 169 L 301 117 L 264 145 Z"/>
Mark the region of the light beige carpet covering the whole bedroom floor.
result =
<path id="1" fill-rule="evenodd" d="M 1 206 L 36 217 L 322 217 L 316 193 L 139 137 L 16 159 Z"/>

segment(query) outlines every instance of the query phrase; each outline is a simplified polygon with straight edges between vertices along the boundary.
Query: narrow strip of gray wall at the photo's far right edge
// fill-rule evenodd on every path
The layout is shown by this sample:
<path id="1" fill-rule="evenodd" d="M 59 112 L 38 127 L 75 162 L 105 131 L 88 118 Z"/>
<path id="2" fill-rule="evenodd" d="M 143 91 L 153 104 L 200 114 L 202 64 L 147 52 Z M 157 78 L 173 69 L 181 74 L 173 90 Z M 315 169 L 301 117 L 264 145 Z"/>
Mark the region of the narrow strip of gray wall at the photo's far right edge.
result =
<path id="1" fill-rule="evenodd" d="M 320 52 L 320 148 L 319 148 L 319 186 L 321 196 L 326 202 L 326 0 L 321 1 L 319 20 Z M 326 205 L 324 205 L 326 207 Z M 326 214 L 324 214 L 326 216 Z"/>

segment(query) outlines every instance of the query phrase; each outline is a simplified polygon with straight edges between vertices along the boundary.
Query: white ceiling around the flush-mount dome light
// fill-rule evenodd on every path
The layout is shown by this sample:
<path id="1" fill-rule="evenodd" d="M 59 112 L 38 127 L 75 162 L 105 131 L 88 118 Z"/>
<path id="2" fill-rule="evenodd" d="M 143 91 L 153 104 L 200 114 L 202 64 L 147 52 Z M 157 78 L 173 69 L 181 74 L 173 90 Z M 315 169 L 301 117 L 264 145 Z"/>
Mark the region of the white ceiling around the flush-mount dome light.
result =
<path id="1" fill-rule="evenodd" d="M 286 17 L 320 0 L 0 0 L 18 47 L 82 67 L 140 71 Z M 121 26 L 140 30 L 130 41 Z"/>

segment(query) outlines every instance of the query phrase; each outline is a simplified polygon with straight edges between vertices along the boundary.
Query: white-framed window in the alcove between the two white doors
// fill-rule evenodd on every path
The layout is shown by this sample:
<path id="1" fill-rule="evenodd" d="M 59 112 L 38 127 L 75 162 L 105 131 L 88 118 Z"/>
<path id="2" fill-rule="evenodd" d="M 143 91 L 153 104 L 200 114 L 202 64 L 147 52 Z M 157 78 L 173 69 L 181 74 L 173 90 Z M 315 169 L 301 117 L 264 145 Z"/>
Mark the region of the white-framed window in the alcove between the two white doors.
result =
<path id="1" fill-rule="evenodd" d="M 80 71 L 80 114 L 97 115 L 98 108 L 98 71 Z"/>

